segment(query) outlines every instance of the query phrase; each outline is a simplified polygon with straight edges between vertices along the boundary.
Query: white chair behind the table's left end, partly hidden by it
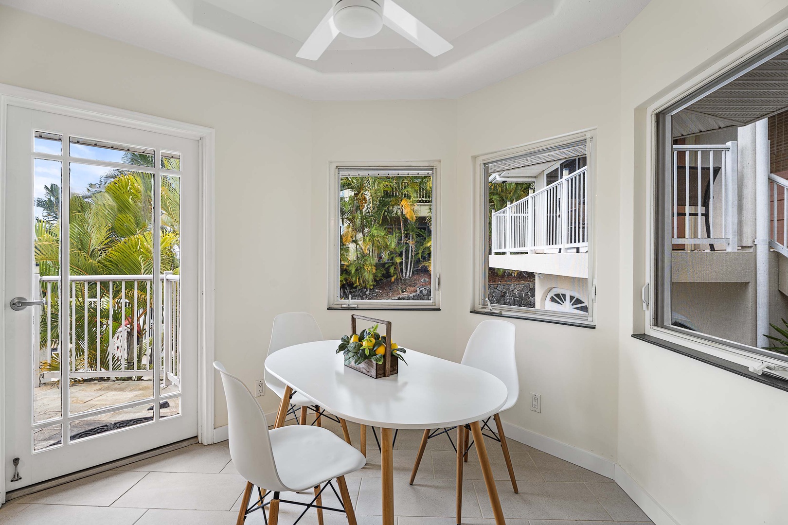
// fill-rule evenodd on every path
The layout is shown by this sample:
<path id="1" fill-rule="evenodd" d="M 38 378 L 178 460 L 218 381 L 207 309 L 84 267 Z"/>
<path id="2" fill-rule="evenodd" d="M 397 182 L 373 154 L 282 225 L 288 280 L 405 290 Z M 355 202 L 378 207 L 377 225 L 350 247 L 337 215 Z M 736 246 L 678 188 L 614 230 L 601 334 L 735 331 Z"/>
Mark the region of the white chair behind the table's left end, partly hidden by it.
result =
<path id="1" fill-rule="evenodd" d="M 266 358 L 274 352 L 286 348 L 288 346 L 300 345 L 303 342 L 322 341 L 323 334 L 318 327 L 318 323 L 314 317 L 307 312 L 288 312 L 281 313 L 273 318 L 273 330 L 271 331 L 271 342 L 268 346 L 268 353 Z M 263 372 L 263 377 L 266 379 L 266 385 L 273 390 L 281 399 L 284 396 L 284 383 L 279 379 L 269 375 L 268 372 Z M 321 417 L 324 415 L 318 405 L 314 405 L 303 394 L 295 392 L 290 397 L 290 405 L 288 406 L 288 413 L 292 413 L 296 420 L 296 408 L 301 407 L 301 424 L 307 423 L 307 408 L 314 410 L 316 413 L 314 424 L 318 427 L 322 426 Z M 328 416 L 326 416 L 328 417 Z"/>

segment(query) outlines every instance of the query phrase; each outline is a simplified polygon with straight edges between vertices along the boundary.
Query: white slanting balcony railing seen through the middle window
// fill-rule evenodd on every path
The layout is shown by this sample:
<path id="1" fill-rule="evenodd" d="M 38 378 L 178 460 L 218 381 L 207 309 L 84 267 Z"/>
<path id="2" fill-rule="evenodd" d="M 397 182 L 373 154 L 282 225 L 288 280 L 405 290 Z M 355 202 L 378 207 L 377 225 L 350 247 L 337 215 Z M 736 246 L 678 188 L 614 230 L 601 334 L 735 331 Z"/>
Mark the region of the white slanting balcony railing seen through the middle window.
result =
<path id="1" fill-rule="evenodd" d="M 492 253 L 587 250 L 587 172 L 580 168 L 492 213 Z"/>

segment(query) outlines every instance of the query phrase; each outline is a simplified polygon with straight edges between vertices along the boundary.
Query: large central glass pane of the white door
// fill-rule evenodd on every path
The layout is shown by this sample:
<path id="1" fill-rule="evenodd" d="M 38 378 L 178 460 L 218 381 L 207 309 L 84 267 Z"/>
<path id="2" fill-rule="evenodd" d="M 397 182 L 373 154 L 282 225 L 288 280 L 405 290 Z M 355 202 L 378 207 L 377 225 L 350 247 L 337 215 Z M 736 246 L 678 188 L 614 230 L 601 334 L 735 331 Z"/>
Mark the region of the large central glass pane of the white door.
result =
<path id="1" fill-rule="evenodd" d="M 76 414 L 153 396 L 153 176 L 74 162 L 69 173 Z"/>

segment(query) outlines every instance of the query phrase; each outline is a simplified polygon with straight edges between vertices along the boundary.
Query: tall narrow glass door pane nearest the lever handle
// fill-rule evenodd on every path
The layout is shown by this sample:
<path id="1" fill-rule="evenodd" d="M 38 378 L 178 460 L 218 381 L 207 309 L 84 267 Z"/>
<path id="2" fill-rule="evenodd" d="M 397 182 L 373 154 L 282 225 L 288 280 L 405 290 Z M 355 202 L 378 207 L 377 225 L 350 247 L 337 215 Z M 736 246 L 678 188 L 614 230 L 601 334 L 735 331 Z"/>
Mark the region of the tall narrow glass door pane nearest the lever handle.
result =
<path id="1" fill-rule="evenodd" d="M 61 416 L 58 330 L 61 166 L 60 161 L 33 161 L 33 279 L 37 283 L 34 299 L 44 300 L 33 316 L 33 363 L 38 371 L 33 378 L 35 423 Z"/>

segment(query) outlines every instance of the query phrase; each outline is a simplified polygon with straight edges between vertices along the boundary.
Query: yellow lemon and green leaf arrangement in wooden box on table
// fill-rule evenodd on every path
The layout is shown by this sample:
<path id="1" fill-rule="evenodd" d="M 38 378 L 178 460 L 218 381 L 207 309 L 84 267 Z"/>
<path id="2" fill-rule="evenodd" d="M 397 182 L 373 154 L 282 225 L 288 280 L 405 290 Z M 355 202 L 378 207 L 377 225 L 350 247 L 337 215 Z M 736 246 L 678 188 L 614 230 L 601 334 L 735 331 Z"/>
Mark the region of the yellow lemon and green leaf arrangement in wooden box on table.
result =
<path id="1" fill-rule="evenodd" d="M 397 363 L 400 360 L 407 364 L 403 356 L 406 350 L 400 348 L 396 342 L 392 342 L 390 345 L 392 370 L 388 374 L 385 374 L 385 370 L 381 370 L 381 366 L 385 364 L 387 336 L 378 333 L 378 326 L 376 324 L 366 328 L 360 334 L 344 335 L 336 349 L 336 353 L 344 354 L 346 366 L 375 378 L 396 374 Z"/>

